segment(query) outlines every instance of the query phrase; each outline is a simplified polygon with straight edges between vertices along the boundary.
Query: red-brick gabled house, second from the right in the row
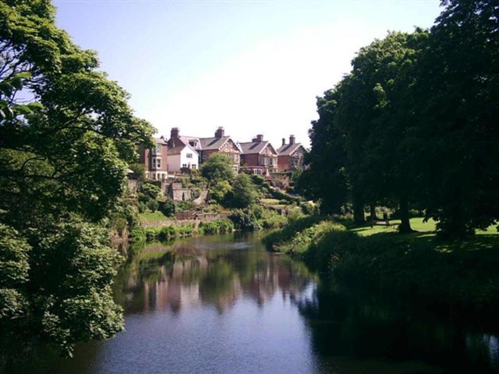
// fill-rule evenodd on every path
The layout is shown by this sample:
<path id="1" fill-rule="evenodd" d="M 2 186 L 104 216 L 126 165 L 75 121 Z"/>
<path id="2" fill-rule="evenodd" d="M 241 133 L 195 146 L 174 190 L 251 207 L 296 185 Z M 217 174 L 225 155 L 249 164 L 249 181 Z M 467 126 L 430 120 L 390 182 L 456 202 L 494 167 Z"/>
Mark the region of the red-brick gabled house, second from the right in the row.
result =
<path id="1" fill-rule="evenodd" d="M 268 177 L 277 171 L 278 154 L 272 145 L 256 135 L 248 143 L 239 143 L 241 148 L 241 169 L 259 176 Z"/>

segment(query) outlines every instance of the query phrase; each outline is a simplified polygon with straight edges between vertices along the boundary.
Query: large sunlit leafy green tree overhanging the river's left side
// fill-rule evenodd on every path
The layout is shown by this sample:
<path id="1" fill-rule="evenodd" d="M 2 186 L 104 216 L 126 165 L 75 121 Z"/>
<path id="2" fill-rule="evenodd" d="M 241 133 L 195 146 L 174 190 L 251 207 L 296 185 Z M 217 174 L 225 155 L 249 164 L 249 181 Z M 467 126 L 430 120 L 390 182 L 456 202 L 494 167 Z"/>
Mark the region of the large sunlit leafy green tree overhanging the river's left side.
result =
<path id="1" fill-rule="evenodd" d="M 0 2 L 0 273 L 18 269 L 0 283 L 0 329 L 66 355 L 122 329 L 110 290 L 120 258 L 101 226 L 138 145 L 152 145 L 153 128 L 98 67 L 49 1 Z"/>

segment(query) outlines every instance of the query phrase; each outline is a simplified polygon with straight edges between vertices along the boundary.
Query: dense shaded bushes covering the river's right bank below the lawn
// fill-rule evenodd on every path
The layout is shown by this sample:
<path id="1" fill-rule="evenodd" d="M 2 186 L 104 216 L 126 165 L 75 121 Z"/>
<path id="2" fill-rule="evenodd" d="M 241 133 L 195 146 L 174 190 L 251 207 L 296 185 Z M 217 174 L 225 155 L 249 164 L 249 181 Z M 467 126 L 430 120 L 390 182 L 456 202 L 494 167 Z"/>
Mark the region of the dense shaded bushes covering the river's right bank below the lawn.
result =
<path id="1" fill-rule="evenodd" d="M 460 242 L 428 233 L 362 237 L 331 220 L 306 217 L 263 241 L 268 249 L 299 256 L 343 285 L 479 308 L 499 305 L 499 235 Z"/>

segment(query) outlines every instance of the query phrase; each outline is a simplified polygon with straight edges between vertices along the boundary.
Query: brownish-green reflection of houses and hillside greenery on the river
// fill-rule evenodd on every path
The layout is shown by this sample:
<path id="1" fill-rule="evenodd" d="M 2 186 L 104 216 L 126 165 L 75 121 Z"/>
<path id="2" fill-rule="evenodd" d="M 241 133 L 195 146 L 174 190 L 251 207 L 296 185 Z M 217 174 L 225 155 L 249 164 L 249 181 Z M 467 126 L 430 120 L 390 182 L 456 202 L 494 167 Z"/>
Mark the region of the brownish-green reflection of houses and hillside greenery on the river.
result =
<path id="1" fill-rule="evenodd" d="M 310 277 L 302 263 L 270 254 L 257 241 L 250 247 L 208 236 L 141 248 L 117 277 L 115 294 L 126 313 L 179 313 L 201 304 L 223 313 L 242 297 L 262 306 L 279 290 L 293 301 Z"/>

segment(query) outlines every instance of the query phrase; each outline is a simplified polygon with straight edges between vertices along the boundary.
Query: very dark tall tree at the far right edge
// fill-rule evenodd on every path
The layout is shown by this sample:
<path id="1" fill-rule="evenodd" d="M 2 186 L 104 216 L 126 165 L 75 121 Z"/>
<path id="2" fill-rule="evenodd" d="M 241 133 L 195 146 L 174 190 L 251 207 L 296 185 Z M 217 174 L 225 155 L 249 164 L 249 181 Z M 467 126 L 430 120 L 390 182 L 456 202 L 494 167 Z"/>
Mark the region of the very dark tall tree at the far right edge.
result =
<path id="1" fill-rule="evenodd" d="M 499 7 L 445 0 L 415 87 L 426 216 L 463 237 L 499 218 Z"/>

